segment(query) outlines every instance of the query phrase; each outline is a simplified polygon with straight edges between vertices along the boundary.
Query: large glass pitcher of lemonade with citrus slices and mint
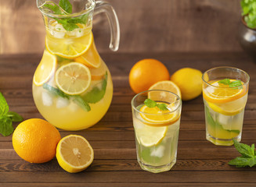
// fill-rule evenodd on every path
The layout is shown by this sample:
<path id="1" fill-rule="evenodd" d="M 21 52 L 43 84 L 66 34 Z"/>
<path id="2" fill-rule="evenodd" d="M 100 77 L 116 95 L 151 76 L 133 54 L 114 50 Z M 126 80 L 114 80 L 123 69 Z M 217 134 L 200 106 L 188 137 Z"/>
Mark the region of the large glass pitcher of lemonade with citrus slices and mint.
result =
<path id="1" fill-rule="evenodd" d="M 95 125 L 110 107 L 113 83 L 92 34 L 92 16 L 106 12 L 110 49 L 117 51 L 120 31 L 108 2 L 37 0 L 45 22 L 45 51 L 34 72 L 33 97 L 41 115 L 64 130 Z"/>

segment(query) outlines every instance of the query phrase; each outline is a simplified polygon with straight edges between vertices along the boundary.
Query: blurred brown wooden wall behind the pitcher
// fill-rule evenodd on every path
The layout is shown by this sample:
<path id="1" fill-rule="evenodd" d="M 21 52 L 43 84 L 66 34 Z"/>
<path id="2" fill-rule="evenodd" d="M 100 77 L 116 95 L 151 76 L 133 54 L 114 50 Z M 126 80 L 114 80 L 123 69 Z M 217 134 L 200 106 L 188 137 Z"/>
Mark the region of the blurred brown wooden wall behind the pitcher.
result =
<path id="1" fill-rule="evenodd" d="M 118 52 L 242 51 L 236 39 L 239 0 L 109 0 L 121 26 Z M 110 28 L 95 16 L 99 52 L 109 51 Z M 36 0 L 0 0 L 0 54 L 38 53 L 45 29 Z"/>

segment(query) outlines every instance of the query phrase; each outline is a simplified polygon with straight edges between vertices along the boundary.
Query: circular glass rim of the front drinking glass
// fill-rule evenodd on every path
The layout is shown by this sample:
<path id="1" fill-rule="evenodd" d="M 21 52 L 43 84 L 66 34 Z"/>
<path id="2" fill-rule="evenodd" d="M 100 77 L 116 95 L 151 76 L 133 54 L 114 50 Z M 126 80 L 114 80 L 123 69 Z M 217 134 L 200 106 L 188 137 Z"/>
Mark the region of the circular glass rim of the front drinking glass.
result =
<path id="1" fill-rule="evenodd" d="M 175 110 L 166 112 L 166 113 L 164 113 L 164 114 L 150 114 L 150 113 L 146 113 L 146 112 L 143 112 L 143 111 L 139 111 L 137 108 L 135 108 L 135 106 L 134 106 L 134 104 L 133 104 L 134 101 L 135 101 L 135 98 L 136 98 L 136 97 L 139 97 L 139 95 L 142 95 L 142 94 L 145 94 L 145 93 L 149 93 L 149 92 L 151 92 L 151 91 L 164 91 L 164 92 L 167 92 L 167 93 L 169 93 L 169 94 L 175 95 L 175 97 L 177 97 L 177 100 L 176 100 L 175 102 L 179 101 L 178 106 L 175 108 Z M 175 102 L 174 102 L 174 103 L 175 103 Z M 181 99 L 181 97 L 179 97 L 177 94 L 175 94 L 175 93 L 173 93 L 173 92 L 171 92 L 171 91 L 168 91 L 168 90 L 146 90 L 146 91 L 142 91 L 142 92 L 140 92 L 139 94 L 136 94 L 134 97 L 132 97 L 131 104 L 132 104 L 132 108 L 133 108 L 135 111 L 137 111 L 137 112 L 139 112 L 140 114 L 143 114 L 143 115 L 170 115 L 170 114 L 174 113 L 175 111 L 178 111 L 178 109 L 182 107 L 182 99 Z"/>

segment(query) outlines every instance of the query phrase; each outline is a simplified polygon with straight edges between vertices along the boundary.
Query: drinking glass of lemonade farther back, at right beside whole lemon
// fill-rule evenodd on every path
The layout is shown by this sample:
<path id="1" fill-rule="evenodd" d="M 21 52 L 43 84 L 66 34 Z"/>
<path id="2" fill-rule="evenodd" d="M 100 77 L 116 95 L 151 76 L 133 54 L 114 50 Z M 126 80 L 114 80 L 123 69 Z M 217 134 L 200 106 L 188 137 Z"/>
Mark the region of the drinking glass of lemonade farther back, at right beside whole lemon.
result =
<path id="1" fill-rule="evenodd" d="M 203 74 L 206 139 L 215 145 L 240 142 L 249 75 L 241 69 L 218 67 Z"/>

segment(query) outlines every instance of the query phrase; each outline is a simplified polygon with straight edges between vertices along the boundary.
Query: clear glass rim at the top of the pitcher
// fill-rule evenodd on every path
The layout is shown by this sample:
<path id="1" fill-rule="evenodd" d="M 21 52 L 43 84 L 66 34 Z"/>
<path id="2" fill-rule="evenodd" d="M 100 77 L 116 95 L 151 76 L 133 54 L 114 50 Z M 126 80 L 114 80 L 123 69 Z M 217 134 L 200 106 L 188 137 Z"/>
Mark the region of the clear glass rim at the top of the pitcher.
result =
<path id="1" fill-rule="evenodd" d="M 92 12 L 92 10 L 95 9 L 96 7 L 96 2 L 95 0 L 89 0 L 91 3 L 91 5 L 85 9 L 85 10 L 82 10 L 81 12 L 74 12 L 74 13 L 67 13 L 67 15 L 58 15 L 58 14 L 53 14 L 53 13 L 49 13 L 49 12 L 45 12 L 41 9 L 41 6 L 45 5 L 45 2 L 42 3 L 41 5 L 38 5 L 38 0 L 37 0 L 37 6 L 38 6 L 38 9 L 40 10 L 40 12 L 45 15 L 45 16 L 49 16 L 51 18 L 59 18 L 59 19 L 62 19 L 62 18 L 72 18 L 72 17 L 78 17 L 78 16 L 82 16 L 82 15 L 85 15 L 85 14 L 88 14 L 89 12 Z M 46 1 L 47 2 L 47 1 Z M 61 9 L 61 7 L 59 7 L 59 9 Z M 62 9 L 63 10 L 63 9 Z M 63 10 L 63 12 L 66 12 L 65 10 Z"/>

